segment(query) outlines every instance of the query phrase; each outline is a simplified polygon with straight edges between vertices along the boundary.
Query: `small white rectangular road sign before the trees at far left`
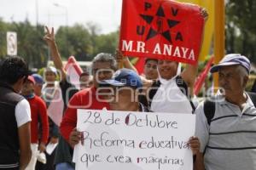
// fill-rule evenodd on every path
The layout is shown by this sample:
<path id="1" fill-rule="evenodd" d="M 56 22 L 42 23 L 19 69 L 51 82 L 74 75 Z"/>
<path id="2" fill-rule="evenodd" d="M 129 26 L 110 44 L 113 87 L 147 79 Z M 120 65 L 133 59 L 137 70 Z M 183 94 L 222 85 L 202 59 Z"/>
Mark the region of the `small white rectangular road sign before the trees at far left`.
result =
<path id="1" fill-rule="evenodd" d="M 14 31 L 8 31 L 6 34 L 7 40 L 7 54 L 17 55 L 17 33 Z"/>

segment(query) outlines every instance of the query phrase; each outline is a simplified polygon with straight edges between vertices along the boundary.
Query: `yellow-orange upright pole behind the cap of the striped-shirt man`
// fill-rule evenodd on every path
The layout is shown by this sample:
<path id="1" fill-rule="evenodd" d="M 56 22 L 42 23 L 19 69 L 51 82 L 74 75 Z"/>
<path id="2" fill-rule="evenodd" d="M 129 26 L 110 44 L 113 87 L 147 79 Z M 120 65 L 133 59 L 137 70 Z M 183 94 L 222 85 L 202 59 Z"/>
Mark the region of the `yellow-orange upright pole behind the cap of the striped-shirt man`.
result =
<path id="1" fill-rule="evenodd" d="M 224 0 L 214 0 L 214 63 L 217 64 L 224 57 Z M 213 74 L 214 91 L 218 89 L 218 74 Z"/>

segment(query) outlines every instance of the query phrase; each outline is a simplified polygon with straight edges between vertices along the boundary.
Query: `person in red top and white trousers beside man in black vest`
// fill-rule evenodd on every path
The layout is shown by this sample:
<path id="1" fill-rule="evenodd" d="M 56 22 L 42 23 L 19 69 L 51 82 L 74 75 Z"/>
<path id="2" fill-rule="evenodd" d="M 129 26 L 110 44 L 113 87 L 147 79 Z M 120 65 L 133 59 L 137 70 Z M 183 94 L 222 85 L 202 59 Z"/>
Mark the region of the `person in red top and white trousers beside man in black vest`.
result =
<path id="1" fill-rule="evenodd" d="M 26 170 L 33 170 L 36 167 L 37 156 L 39 152 L 45 151 L 45 144 L 47 144 L 49 136 L 49 123 L 46 105 L 44 100 L 34 94 L 35 80 L 32 76 L 28 76 L 27 80 L 24 82 L 24 86 L 21 89 L 21 94 L 29 102 L 31 109 L 31 148 L 32 148 L 32 159 L 29 162 Z M 38 119 L 42 124 L 42 128 L 39 132 L 38 129 Z M 38 132 L 40 134 L 40 141 L 38 139 Z M 38 151 L 39 150 L 39 151 Z"/>

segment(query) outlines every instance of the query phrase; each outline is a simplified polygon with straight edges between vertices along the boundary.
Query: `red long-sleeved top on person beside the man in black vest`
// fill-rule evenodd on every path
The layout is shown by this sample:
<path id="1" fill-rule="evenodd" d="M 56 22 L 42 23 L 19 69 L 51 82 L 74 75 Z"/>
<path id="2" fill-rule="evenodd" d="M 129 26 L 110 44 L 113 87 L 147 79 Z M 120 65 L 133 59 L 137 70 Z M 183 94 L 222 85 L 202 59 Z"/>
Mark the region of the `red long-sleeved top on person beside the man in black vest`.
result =
<path id="1" fill-rule="evenodd" d="M 31 143 L 38 143 L 38 119 L 42 123 L 41 142 L 47 143 L 49 137 L 49 122 L 47 116 L 47 109 L 44 100 L 38 96 L 32 99 L 27 99 L 31 108 Z"/>

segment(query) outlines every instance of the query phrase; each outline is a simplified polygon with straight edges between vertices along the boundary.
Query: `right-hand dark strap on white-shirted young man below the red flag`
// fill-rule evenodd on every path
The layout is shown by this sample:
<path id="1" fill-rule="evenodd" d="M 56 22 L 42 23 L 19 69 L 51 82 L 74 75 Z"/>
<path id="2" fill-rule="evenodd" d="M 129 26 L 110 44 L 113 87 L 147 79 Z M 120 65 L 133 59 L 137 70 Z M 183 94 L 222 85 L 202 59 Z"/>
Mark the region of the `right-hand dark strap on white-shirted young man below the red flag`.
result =
<path id="1" fill-rule="evenodd" d="M 195 112 L 195 105 L 191 100 L 191 96 L 189 94 L 189 88 L 186 82 L 184 82 L 183 78 L 181 76 L 177 76 L 176 77 L 176 83 L 177 83 L 177 87 L 181 90 L 181 92 L 187 96 L 187 98 L 189 99 L 189 103 L 192 107 L 192 113 Z"/>

